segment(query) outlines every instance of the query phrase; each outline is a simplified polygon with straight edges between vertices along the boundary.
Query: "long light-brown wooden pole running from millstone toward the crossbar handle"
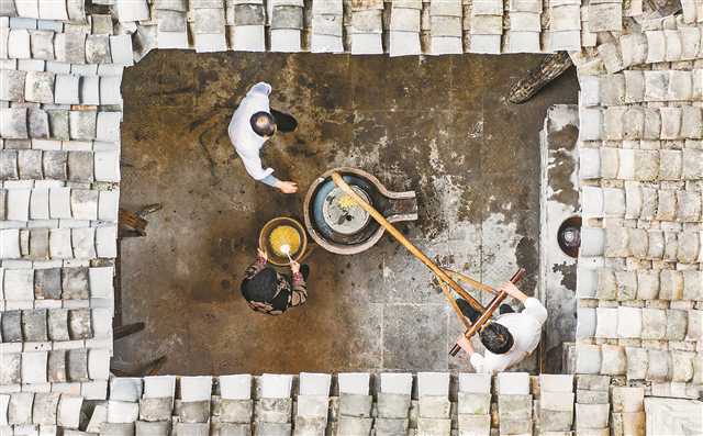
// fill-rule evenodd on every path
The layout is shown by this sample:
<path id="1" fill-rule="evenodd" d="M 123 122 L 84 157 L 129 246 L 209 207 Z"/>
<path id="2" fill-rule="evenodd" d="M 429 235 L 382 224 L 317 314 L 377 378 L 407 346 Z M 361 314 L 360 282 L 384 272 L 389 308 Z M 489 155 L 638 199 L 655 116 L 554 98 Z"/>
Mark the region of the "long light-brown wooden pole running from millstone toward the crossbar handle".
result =
<path id="1" fill-rule="evenodd" d="M 465 291 L 464 288 L 461 288 L 456 281 L 454 281 L 453 278 L 447 276 L 447 273 L 444 272 L 444 270 L 439 268 L 435 262 L 433 262 L 424 253 L 422 253 L 420 248 L 415 247 L 410 241 L 408 241 L 408 238 L 402 233 L 400 233 L 400 231 L 395 228 L 393 224 L 389 223 L 388 220 L 386 220 L 386 216 L 381 215 L 380 212 L 373 209 L 372 205 L 367 203 L 356 192 L 354 192 L 352 187 L 349 187 L 349 185 L 347 185 L 347 182 L 344 181 L 344 179 L 342 178 L 342 176 L 339 176 L 339 174 L 333 172 L 332 180 L 335 182 L 336 186 L 339 187 L 339 189 L 344 191 L 344 193 L 353 198 L 356 201 L 356 203 L 359 206 L 361 206 L 361 209 L 368 212 L 368 214 L 371 215 L 373 220 L 376 220 L 383 228 L 386 228 L 386 231 L 390 233 L 391 236 L 393 236 L 399 243 L 401 243 L 401 245 L 408 248 L 408 250 L 412 253 L 413 256 L 415 256 L 417 259 L 420 259 L 420 261 L 425 264 L 425 266 L 429 268 L 432 272 L 435 273 L 435 276 L 437 276 L 437 279 L 439 279 L 440 283 L 445 282 L 449 284 L 449 287 L 451 287 L 451 289 L 456 293 L 458 293 L 462 299 L 465 299 L 471 305 L 471 308 L 476 309 L 481 313 L 486 311 L 486 308 L 483 308 L 481 303 L 479 303 L 473 297 L 471 297 L 467 291 Z M 451 298 L 450 295 L 449 298 L 450 300 L 454 300 L 454 298 Z"/>

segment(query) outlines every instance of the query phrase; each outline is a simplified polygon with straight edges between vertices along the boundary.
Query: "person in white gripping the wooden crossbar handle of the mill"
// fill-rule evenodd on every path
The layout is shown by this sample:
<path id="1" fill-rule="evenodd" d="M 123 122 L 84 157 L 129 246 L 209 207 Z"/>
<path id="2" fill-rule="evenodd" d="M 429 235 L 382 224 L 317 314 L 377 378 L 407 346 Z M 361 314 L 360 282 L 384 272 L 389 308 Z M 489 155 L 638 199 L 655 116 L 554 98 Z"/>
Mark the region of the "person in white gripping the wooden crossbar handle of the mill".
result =
<path id="1" fill-rule="evenodd" d="M 539 345 L 542 326 L 547 321 L 547 310 L 539 300 L 525 295 L 511 282 L 503 283 L 500 290 L 523 302 L 525 310 L 516 313 L 510 305 L 501 305 L 500 315 L 479 333 L 486 347 L 483 356 L 476 353 L 469 339 L 459 336 L 457 344 L 469 355 L 476 372 L 496 373 L 520 364 Z M 459 299 L 457 303 L 471 322 L 478 320 L 480 313 L 465 300 Z"/>

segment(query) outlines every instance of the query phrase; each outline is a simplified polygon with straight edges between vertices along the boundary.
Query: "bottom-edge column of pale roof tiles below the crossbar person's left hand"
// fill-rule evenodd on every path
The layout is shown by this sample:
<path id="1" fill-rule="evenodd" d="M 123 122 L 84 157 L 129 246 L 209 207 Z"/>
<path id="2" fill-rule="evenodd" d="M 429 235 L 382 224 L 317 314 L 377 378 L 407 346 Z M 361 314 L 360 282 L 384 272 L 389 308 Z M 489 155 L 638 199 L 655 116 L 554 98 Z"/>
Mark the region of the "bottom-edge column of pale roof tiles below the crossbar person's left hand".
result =
<path id="1" fill-rule="evenodd" d="M 491 376 L 460 373 L 457 421 L 460 436 L 491 433 Z"/>

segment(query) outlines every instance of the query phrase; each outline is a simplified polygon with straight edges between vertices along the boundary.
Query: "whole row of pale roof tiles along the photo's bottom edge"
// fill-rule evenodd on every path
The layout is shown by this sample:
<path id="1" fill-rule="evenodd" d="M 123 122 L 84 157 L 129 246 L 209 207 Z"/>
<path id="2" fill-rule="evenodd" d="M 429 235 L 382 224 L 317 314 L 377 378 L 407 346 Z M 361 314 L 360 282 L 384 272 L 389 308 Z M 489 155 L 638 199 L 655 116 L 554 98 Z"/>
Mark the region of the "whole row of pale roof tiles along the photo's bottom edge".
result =
<path id="1" fill-rule="evenodd" d="M 573 379 L 524 372 L 111 377 L 99 399 L 0 393 L 0 434 L 557 436 L 611 428 L 614 436 L 644 435 L 644 388 L 576 376 L 574 395 Z"/>

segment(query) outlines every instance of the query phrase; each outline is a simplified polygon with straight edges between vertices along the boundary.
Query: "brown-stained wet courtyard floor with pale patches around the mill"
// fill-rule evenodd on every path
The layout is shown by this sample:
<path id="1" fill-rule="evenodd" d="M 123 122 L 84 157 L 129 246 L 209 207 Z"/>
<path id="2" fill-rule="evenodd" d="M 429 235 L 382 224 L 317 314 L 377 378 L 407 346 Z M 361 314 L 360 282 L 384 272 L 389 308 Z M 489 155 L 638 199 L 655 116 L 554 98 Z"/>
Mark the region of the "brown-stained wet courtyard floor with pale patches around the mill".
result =
<path id="1" fill-rule="evenodd" d="M 116 342 L 115 359 L 165 354 L 161 373 L 178 374 L 470 368 L 447 356 L 460 326 L 431 272 L 388 237 L 353 257 L 317 249 L 308 303 L 283 316 L 252 312 L 238 287 L 260 226 L 302 219 L 312 180 L 353 166 L 417 192 L 420 220 L 402 230 L 431 257 L 495 284 L 524 267 L 535 292 L 538 132 L 550 104 L 577 98 L 569 71 L 507 103 L 512 79 L 539 60 L 153 52 L 123 81 L 122 206 L 164 210 L 147 237 L 122 243 L 123 318 L 147 327 Z M 227 137 L 259 80 L 300 123 L 264 153 L 295 195 L 248 178 Z"/>

